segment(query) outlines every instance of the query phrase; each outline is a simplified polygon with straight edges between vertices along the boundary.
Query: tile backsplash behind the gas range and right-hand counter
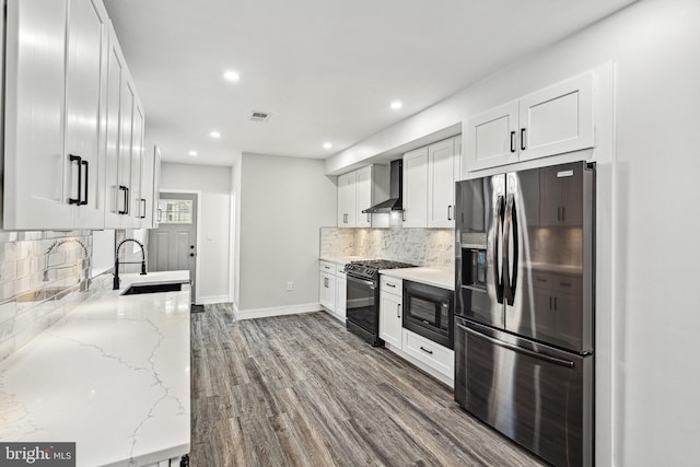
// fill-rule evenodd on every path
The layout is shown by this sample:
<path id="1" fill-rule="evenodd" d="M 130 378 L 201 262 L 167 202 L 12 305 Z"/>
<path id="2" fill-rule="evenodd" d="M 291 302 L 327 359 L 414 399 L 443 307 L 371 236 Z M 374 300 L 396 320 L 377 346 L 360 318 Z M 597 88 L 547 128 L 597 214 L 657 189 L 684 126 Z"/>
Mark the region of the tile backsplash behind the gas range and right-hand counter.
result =
<path id="1" fill-rule="evenodd" d="M 454 268 L 452 229 L 320 229 L 320 256 L 361 256 Z"/>

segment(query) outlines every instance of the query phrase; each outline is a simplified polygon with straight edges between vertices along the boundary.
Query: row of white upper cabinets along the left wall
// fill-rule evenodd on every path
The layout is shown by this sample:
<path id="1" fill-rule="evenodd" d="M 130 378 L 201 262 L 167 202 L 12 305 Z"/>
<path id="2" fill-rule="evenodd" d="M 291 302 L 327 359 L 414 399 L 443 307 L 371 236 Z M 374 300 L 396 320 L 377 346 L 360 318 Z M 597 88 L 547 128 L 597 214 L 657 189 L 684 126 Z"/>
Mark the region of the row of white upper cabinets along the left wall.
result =
<path id="1" fill-rule="evenodd" d="M 128 73 L 102 0 L 9 0 L 5 22 L 3 229 L 130 226 L 114 224 L 112 176 L 125 138 L 133 144 Z"/>

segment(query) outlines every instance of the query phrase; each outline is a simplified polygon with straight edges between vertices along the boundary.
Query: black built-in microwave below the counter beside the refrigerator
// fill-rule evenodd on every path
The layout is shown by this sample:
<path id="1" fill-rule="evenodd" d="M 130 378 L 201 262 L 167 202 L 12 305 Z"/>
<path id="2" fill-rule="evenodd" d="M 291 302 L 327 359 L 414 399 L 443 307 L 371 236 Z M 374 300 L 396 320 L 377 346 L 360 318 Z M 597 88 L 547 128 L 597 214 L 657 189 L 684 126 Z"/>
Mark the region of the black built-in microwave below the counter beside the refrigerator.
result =
<path id="1" fill-rule="evenodd" d="M 453 301 L 451 290 L 404 280 L 404 327 L 454 349 Z"/>

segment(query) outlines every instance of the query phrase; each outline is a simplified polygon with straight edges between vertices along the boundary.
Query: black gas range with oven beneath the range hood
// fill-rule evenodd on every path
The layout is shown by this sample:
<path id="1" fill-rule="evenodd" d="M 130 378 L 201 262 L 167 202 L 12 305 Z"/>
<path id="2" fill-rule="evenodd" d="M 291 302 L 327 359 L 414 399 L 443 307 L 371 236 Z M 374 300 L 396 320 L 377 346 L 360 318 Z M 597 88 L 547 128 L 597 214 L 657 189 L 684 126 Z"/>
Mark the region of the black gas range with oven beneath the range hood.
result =
<path id="1" fill-rule="evenodd" d="M 368 259 L 346 265 L 347 329 L 373 347 L 384 346 L 384 340 L 380 339 L 380 270 L 413 267 L 387 259 Z"/>

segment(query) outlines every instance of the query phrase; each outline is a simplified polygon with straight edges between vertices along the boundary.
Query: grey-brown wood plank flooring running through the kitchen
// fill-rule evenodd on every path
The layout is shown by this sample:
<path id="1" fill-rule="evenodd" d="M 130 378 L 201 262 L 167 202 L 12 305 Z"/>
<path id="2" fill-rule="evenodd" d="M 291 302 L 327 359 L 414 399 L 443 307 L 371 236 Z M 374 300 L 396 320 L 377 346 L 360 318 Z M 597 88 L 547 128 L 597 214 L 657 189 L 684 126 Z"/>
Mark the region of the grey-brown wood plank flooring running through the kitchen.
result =
<path id="1" fill-rule="evenodd" d="M 192 466 L 542 465 L 325 313 L 191 319 Z"/>

